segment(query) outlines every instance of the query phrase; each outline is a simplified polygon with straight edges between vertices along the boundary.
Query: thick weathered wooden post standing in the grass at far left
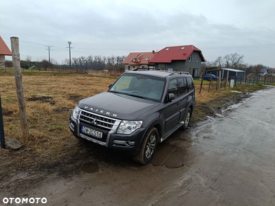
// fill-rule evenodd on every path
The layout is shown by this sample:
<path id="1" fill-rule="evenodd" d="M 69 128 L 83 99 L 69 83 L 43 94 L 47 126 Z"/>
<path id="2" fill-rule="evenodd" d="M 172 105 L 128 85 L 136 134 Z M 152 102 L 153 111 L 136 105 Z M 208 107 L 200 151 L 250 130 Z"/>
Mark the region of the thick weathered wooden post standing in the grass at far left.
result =
<path id="1" fill-rule="evenodd" d="M 27 143 L 30 139 L 29 126 L 27 121 L 27 115 L 25 110 L 25 98 L 23 92 L 22 73 L 20 67 L 20 53 L 19 53 L 19 38 L 10 37 L 12 45 L 12 65 L 14 68 L 15 84 L 17 87 L 17 100 L 19 106 L 19 115 L 21 122 L 21 130 L 24 143 Z"/>

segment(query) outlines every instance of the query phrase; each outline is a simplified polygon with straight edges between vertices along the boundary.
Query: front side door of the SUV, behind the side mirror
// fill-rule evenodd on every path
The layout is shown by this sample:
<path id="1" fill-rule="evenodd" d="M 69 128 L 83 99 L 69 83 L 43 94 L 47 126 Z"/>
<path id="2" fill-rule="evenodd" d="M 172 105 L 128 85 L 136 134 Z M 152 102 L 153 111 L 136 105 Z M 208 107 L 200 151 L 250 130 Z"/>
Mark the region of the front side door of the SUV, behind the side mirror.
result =
<path id="1" fill-rule="evenodd" d="M 178 98 L 178 86 L 177 86 L 177 79 L 172 79 L 168 83 L 168 93 L 174 93 L 175 94 L 175 100 L 172 102 L 167 102 L 165 107 L 165 129 L 164 132 L 167 132 L 170 130 L 170 128 L 173 128 L 175 125 L 179 123 L 179 108 L 180 108 L 180 101 Z"/>

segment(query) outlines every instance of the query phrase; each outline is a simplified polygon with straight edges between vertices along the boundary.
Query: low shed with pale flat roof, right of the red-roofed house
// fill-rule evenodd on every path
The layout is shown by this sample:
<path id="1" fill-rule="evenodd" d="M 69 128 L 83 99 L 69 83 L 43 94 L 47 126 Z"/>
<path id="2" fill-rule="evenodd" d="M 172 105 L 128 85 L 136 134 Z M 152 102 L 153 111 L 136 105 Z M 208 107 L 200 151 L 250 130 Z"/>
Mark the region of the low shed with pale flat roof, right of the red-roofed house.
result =
<path id="1" fill-rule="evenodd" d="M 229 77 L 228 80 L 244 80 L 245 79 L 245 71 L 239 70 L 239 69 L 229 69 L 229 68 L 223 68 L 223 69 L 212 69 L 206 71 L 206 73 L 212 73 L 215 76 L 219 76 L 219 71 L 221 71 L 221 79 L 227 78 L 228 71 L 229 71 Z"/>

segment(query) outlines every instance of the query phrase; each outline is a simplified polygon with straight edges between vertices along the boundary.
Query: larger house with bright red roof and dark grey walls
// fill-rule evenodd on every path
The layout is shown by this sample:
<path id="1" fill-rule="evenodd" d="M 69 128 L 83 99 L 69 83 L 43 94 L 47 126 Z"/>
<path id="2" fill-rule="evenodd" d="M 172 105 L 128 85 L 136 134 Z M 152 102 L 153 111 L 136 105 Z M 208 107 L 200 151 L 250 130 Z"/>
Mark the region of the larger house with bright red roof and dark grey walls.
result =
<path id="1" fill-rule="evenodd" d="M 201 62 L 205 61 L 200 49 L 194 45 L 181 45 L 156 52 L 150 63 L 164 70 L 187 71 L 193 78 L 199 78 Z"/>

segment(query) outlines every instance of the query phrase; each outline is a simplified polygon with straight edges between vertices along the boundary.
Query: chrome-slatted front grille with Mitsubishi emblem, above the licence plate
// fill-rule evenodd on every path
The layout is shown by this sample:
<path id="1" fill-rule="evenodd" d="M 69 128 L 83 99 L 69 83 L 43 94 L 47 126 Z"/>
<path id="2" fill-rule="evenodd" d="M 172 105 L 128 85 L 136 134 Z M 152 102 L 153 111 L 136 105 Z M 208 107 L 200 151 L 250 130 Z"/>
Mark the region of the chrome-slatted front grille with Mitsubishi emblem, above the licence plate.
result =
<path id="1" fill-rule="evenodd" d="M 83 124 L 102 130 L 111 130 L 113 124 L 115 124 L 115 119 L 97 115 L 95 113 L 88 113 L 87 111 L 81 111 L 79 120 L 80 123 L 82 122 Z"/>

